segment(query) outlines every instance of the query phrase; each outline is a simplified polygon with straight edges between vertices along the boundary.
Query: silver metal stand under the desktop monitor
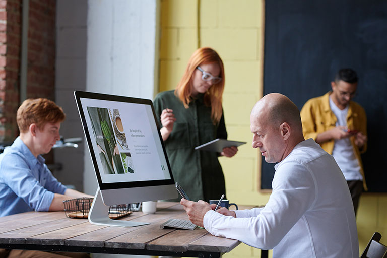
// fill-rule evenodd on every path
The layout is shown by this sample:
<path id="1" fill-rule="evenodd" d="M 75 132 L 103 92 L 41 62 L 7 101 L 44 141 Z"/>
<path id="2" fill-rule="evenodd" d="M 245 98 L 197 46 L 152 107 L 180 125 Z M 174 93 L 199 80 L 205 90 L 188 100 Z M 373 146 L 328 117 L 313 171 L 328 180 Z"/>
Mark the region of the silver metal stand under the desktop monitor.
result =
<path id="1" fill-rule="evenodd" d="M 90 208 L 89 221 L 93 225 L 115 226 L 115 227 L 137 227 L 137 226 L 150 224 L 147 222 L 110 219 L 109 206 L 106 206 L 102 202 L 102 196 L 101 196 L 101 191 L 99 190 L 99 187 L 97 189 L 97 192 L 95 193 L 94 201 Z"/>

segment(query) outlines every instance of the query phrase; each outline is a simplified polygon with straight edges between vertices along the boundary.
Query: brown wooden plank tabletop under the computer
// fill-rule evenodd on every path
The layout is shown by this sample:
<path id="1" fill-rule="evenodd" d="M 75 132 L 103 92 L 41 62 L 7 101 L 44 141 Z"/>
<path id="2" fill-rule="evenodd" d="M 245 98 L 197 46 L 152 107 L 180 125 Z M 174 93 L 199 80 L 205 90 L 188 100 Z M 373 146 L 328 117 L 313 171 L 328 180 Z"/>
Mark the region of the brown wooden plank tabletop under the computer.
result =
<path id="1" fill-rule="evenodd" d="M 87 219 L 67 218 L 64 212 L 20 213 L 0 218 L 0 248 L 220 257 L 240 244 L 201 228 L 160 229 L 160 224 L 170 218 L 187 219 L 179 203 L 159 202 L 155 214 L 134 212 L 123 218 L 151 223 L 131 228 L 92 225 Z"/>

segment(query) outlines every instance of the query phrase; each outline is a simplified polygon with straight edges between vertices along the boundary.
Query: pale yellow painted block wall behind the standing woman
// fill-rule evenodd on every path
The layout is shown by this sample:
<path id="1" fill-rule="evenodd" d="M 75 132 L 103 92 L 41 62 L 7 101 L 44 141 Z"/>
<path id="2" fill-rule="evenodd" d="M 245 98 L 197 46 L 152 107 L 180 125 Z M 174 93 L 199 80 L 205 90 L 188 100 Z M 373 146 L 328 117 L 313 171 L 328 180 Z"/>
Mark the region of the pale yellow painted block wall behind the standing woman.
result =
<path id="1" fill-rule="evenodd" d="M 172 90 L 190 55 L 198 47 L 214 48 L 225 66 L 223 108 L 228 139 L 245 141 L 238 154 L 220 162 L 227 197 L 245 205 L 262 205 L 259 192 L 261 155 L 251 147 L 249 114 L 262 97 L 264 0 L 161 0 L 160 91 Z M 360 200 L 358 229 L 363 250 L 374 231 L 387 238 L 387 197 L 365 195 Z M 269 253 L 271 255 L 271 252 Z M 260 257 L 260 250 L 239 245 L 225 257 Z"/>

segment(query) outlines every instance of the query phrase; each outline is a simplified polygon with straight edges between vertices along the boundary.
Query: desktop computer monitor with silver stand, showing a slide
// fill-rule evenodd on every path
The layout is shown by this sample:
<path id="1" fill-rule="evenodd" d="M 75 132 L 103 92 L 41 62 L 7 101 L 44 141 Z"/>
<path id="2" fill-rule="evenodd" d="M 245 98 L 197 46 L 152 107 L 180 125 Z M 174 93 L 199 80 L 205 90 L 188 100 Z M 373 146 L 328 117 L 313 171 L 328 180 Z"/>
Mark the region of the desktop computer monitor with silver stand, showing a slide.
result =
<path id="1" fill-rule="evenodd" d="M 152 101 L 82 91 L 74 96 L 99 186 L 90 222 L 146 224 L 110 220 L 108 208 L 177 197 Z"/>

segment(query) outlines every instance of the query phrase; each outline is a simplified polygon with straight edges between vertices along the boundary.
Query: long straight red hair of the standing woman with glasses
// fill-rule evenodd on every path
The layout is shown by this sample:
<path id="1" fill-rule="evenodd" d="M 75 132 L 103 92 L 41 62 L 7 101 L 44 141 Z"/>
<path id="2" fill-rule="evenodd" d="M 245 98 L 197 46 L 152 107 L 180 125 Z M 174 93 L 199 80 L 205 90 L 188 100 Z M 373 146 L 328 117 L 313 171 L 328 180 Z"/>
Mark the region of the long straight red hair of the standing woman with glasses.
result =
<path id="1" fill-rule="evenodd" d="M 183 102 L 184 107 L 188 108 L 192 101 L 192 74 L 202 63 L 217 63 L 220 68 L 219 77 L 222 80 L 212 85 L 204 94 L 204 103 L 211 106 L 211 119 L 214 124 L 219 123 L 222 117 L 222 94 L 224 90 L 224 67 L 219 54 L 212 48 L 202 47 L 197 49 L 189 58 L 187 68 L 175 89 L 175 95 Z"/>

